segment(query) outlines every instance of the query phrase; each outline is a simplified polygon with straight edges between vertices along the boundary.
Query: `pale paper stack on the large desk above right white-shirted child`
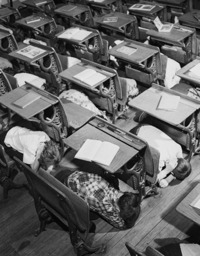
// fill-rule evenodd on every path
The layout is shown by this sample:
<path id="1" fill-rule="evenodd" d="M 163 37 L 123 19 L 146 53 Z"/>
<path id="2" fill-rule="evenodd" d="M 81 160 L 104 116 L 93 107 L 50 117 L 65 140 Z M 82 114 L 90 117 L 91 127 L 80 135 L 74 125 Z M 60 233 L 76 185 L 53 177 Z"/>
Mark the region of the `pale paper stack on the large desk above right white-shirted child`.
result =
<path id="1" fill-rule="evenodd" d="M 163 95 L 158 103 L 158 110 L 176 111 L 180 96 L 176 95 Z"/>

